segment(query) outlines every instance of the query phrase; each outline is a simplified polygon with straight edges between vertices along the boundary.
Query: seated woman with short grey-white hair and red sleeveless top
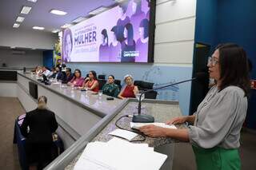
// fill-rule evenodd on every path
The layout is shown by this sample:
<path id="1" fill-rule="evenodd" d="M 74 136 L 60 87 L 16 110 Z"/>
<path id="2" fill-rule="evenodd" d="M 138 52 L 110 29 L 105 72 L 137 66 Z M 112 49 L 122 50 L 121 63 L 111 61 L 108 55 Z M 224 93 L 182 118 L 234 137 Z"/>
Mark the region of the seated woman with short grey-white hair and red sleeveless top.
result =
<path id="1" fill-rule="evenodd" d="M 126 87 L 123 88 L 121 92 L 118 94 L 118 98 L 134 98 L 138 93 L 138 87 L 134 85 L 134 78 L 130 74 L 127 74 L 124 78 L 124 81 L 126 82 Z"/>

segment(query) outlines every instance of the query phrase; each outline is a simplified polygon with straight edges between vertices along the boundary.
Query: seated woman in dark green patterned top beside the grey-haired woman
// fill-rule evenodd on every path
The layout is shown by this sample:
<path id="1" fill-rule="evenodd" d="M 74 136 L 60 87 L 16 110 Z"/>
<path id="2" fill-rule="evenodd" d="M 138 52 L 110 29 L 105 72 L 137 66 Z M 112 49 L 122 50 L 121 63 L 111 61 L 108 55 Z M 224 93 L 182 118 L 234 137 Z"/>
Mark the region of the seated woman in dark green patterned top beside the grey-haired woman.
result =
<path id="1" fill-rule="evenodd" d="M 102 93 L 111 97 L 118 97 L 119 92 L 118 85 L 114 84 L 114 76 L 110 75 L 107 79 L 107 83 L 102 87 Z"/>

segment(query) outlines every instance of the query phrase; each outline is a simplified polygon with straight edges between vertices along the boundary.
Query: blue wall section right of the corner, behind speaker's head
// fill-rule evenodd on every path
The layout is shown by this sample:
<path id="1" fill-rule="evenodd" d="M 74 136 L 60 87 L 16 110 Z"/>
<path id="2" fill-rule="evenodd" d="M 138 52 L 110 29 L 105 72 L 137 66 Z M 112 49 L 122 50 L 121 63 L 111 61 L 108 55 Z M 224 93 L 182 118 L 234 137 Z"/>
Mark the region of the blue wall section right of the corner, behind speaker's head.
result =
<path id="1" fill-rule="evenodd" d="M 218 0 L 218 42 L 235 42 L 246 49 L 256 79 L 256 1 Z"/>

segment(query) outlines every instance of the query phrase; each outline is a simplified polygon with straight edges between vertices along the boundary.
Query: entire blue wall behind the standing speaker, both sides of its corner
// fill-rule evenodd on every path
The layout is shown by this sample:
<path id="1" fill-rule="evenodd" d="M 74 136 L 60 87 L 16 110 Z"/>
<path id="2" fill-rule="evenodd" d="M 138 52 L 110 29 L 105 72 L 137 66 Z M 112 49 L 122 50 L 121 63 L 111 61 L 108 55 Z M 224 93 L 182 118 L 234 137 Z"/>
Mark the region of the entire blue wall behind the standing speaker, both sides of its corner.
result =
<path id="1" fill-rule="evenodd" d="M 251 78 L 256 79 L 256 1 L 198 0 L 195 42 L 218 45 L 234 42 L 242 45 L 254 65 Z M 256 128 L 256 90 L 252 89 L 246 126 Z"/>

